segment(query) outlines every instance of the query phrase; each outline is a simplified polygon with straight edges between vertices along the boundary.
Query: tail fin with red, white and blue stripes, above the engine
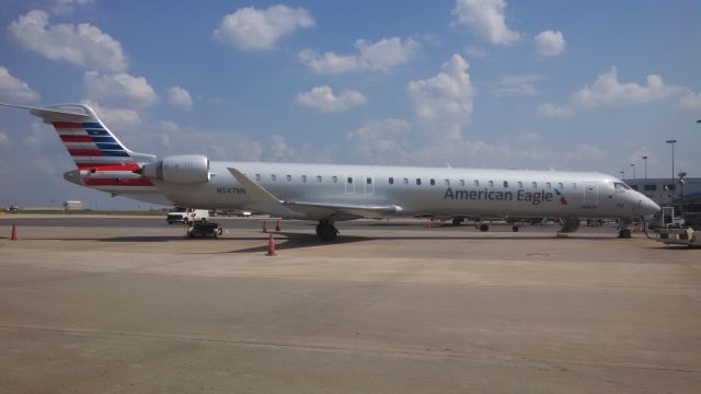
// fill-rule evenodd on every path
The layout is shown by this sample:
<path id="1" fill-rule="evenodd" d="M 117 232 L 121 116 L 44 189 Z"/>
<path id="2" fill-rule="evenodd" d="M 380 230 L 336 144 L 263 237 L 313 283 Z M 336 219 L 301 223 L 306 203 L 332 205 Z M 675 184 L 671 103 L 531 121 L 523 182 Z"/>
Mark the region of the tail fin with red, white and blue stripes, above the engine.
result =
<path id="1" fill-rule="evenodd" d="M 59 104 L 44 108 L 0 104 L 30 109 L 45 124 L 53 125 L 78 169 L 96 166 L 134 166 L 156 161 L 153 154 L 136 153 L 127 149 L 84 104 Z"/>

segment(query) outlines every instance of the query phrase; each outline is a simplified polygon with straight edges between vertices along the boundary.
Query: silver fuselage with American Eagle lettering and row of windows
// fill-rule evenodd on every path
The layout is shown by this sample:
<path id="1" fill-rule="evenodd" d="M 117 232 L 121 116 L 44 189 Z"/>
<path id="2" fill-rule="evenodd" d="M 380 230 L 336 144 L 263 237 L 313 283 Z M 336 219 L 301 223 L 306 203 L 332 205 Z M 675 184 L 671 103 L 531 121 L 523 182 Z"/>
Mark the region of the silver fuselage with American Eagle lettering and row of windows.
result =
<path id="1" fill-rule="evenodd" d="M 251 204 L 227 171 L 235 167 L 283 200 L 395 205 L 395 216 L 518 216 L 618 218 L 643 215 L 636 192 L 594 172 L 516 171 L 343 164 L 211 162 L 198 185 L 154 181 L 175 205 L 241 209 Z M 320 218 L 310 216 L 307 219 Z"/>

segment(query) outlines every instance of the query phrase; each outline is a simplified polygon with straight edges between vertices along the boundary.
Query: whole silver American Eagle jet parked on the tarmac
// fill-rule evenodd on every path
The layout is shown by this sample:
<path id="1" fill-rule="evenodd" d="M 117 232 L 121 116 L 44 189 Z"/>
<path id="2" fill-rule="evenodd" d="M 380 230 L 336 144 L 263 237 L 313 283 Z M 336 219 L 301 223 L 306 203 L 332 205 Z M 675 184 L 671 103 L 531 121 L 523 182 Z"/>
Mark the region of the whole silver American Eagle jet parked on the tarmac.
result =
<path id="1" fill-rule="evenodd" d="M 327 241 L 338 233 L 335 221 L 358 218 L 558 217 L 572 232 L 581 218 L 624 221 L 660 209 L 596 172 L 157 160 L 127 149 L 88 105 L 0 105 L 30 109 L 56 128 L 78 166 L 64 174 L 69 182 L 149 202 L 315 220 Z"/>

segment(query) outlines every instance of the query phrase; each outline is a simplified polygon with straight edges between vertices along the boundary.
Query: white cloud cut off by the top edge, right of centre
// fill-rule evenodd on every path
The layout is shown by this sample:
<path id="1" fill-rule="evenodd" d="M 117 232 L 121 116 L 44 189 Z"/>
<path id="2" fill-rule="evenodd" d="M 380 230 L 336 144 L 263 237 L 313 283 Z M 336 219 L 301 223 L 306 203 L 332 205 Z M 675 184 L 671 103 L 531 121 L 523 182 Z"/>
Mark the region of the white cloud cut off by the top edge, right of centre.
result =
<path id="1" fill-rule="evenodd" d="M 509 45 L 520 35 L 508 28 L 504 21 L 506 0 L 457 0 L 453 23 L 472 27 L 479 35 L 495 45 Z"/>

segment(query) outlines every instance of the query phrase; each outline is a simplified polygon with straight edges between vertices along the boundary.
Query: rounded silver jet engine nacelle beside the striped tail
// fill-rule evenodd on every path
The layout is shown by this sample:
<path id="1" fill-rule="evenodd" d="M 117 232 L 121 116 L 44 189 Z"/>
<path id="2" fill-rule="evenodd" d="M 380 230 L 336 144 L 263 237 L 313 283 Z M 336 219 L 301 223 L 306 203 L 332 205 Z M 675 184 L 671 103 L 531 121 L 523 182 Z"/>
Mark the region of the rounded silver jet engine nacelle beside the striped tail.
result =
<path id="1" fill-rule="evenodd" d="M 176 184 L 197 184 L 209 182 L 209 159 L 202 154 L 182 154 L 168 157 L 157 162 L 145 164 L 141 175 Z"/>

